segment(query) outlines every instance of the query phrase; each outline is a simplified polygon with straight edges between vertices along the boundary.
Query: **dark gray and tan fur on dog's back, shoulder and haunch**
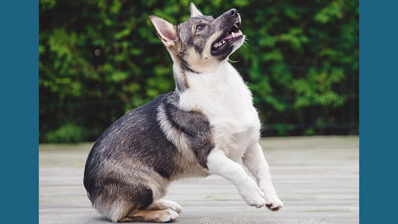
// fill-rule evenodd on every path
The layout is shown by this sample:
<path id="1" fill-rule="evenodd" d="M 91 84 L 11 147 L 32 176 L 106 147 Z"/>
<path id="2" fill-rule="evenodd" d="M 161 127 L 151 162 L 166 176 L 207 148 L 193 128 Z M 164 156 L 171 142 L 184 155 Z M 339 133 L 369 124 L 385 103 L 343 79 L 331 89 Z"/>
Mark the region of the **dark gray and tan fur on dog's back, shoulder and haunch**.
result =
<path id="1" fill-rule="evenodd" d="M 211 126 L 200 112 L 179 110 L 178 101 L 176 92 L 159 96 L 123 115 L 94 144 L 84 185 L 95 208 L 111 221 L 147 208 L 164 196 L 170 181 L 207 175 L 206 156 L 213 148 Z M 171 130 L 161 128 L 159 108 L 172 131 L 187 139 L 186 145 L 166 138 L 165 132 Z M 151 188 L 157 183 L 165 183 L 156 189 L 162 192 L 159 196 Z M 112 215 L 115 207 L 120 210 L 117 216 Z"/>

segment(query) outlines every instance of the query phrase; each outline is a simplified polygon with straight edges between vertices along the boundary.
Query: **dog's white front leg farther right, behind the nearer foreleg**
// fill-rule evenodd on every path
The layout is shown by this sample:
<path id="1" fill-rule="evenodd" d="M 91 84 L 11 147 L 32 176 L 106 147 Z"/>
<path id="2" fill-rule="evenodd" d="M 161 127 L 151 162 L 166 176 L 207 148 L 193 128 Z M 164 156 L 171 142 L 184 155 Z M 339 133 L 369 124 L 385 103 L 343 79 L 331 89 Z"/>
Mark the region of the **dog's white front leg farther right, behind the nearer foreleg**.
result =
<path id="1" fill-rule="evenodd" d="M 263 150 L 259 142 L 253 142 L 247 148 L 243 158 L 243 164 L 254 175 L 259 188 L 264 192 L 267 201 L 266 206 L 272 211 L 278 211 L 283 207 L 272 183 L 270 167 L 264 158 Z"/>

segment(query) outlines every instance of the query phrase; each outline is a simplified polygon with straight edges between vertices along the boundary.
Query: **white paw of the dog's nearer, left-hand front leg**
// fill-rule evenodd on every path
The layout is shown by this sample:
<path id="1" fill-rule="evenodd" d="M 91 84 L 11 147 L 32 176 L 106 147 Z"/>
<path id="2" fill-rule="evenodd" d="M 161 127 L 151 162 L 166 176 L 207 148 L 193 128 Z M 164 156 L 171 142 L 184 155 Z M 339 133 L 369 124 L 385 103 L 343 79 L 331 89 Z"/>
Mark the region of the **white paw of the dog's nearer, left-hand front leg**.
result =
<path id="1" fill-rule="evenodd" d="M 266 205 L 264 193 L 257 187 L 254 180 L 250 179 L 245 185 L 238 187 L 238 191 L 249 206 L 261 208 Z"/>

